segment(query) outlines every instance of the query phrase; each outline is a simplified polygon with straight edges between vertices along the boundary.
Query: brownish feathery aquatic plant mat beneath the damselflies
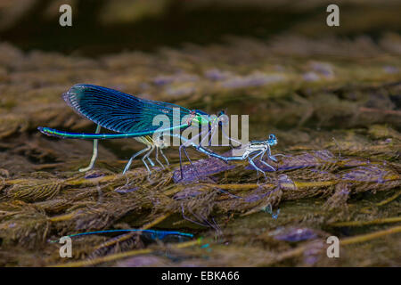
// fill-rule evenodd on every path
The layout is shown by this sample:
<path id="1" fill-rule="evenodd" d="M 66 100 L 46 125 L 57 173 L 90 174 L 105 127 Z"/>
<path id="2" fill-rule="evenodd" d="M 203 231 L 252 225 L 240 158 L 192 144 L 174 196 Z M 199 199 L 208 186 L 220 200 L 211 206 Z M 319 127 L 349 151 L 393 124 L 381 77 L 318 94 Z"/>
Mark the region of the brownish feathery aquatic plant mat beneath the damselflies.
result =
<path id="1" fill-rule="evenodd" d="M 21 53 L 0 44 L 0 265 L 401 265 L 401 38 L 269 42 L 232 38 L 98 59 Z M 94 132 L 61 100 L 76 83 L 119 89 L 210 114 L 250 115 L 250 139 L 275 134 L 277 171 L 189 150 L 147 175 L 134 140 L 100 142 L 37 132 Z M 214 148 L 224 153 L 229 148 Z M 259 162 L 258 167 L 263 167 Z M 268 169 L 266 169 L 268 170 Z M 61 258 L 62 236 L 72 257 Z M 340 239 L 328 258 L 326 239 Z M 159 238 L 158 238 L 159 237 Z"/>

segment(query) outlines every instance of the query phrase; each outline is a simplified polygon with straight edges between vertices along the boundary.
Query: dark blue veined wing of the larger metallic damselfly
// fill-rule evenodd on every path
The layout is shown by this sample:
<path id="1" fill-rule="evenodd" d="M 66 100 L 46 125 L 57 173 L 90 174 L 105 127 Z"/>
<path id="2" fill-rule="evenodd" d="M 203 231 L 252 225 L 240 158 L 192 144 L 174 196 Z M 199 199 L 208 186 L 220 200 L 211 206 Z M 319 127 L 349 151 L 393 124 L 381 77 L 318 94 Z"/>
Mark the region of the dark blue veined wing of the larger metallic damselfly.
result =
<path id="1" fill-rule="evenodd" d="M 178 126 L 191 112 L 175 104 L 141 99 L 97 85 L 73 85 L 62 97 L 78 114 L 118 133 L 156 130 L 160 126 L 152 122 L 157 115 L 166 115 L 170 126 Z M 174 118 L 173 108 L 179 110 L 179 116 Z"/>

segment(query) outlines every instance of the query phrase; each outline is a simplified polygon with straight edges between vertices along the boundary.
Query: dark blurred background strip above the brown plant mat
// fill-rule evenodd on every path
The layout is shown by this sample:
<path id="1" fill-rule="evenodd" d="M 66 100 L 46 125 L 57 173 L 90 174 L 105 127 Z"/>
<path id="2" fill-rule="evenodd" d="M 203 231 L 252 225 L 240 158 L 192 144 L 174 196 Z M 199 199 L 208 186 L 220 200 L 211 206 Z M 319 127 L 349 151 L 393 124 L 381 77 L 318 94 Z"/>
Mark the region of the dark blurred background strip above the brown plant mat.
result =
<path id="1" fill-rule="evenodd" d="M 61 4 L 72 6 L 72 27 L 59 25 Z M 340 27 L 325 24 L 328 4 L 340 6 Z M 25 51 L 86 56 L 224 42 L 226 36 L 268 39 L 295 33 L 352 38 L 363 34 L 374 40 L 383 31 L 400 31 L 400 8 L 400 1 L 379 0 L 4 0 L 0 40 Z"/>

